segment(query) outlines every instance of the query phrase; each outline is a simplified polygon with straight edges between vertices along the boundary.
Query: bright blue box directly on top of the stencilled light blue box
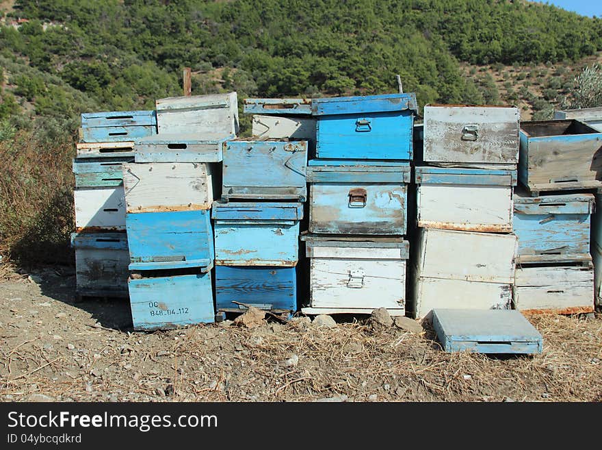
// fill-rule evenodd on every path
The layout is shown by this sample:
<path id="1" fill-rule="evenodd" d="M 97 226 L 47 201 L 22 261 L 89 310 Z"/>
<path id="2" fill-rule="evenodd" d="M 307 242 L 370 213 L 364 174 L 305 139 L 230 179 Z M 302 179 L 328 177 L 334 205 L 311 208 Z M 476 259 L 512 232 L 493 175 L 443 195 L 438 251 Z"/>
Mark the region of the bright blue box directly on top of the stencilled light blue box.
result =
<path id="1" fill-rule="evenodd" d="M 129 268 L 148 271 L 213 264 L 209 210 L 127 213 Z"/>

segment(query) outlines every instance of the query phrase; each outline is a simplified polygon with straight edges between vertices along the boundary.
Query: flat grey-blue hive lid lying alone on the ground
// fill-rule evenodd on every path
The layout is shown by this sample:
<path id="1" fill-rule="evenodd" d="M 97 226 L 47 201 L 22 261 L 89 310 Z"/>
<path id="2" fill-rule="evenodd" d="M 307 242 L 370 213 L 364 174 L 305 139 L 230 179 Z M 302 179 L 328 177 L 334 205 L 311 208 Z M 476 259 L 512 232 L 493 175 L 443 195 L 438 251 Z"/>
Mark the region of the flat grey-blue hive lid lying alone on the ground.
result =
<path id="1" fill-rule="evenodd" d="M 516 310 L 432 311 L 433 328 L 448 352 L 541 353 L 541 334 Z"/>

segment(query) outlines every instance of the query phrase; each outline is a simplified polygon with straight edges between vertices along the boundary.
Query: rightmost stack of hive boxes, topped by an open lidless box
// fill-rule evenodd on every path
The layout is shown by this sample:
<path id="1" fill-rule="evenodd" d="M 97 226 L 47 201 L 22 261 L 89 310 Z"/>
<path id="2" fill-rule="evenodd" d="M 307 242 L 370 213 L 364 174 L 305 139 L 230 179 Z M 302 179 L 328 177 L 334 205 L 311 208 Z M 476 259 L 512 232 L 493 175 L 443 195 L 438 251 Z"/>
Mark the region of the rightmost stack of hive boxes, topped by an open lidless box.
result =
<path id="1" fill-rule="evenodd" d="M 593 312 L 591 192 L 602 188 L 601 152 L 602 132 L 584 122 L 568 118 L 521 124 L 523 188 L 516 191 L 514 205 L 514 232 L 519 236 L 516 309 Z M 595 231 L 593 236 L 595 250 Z"/>

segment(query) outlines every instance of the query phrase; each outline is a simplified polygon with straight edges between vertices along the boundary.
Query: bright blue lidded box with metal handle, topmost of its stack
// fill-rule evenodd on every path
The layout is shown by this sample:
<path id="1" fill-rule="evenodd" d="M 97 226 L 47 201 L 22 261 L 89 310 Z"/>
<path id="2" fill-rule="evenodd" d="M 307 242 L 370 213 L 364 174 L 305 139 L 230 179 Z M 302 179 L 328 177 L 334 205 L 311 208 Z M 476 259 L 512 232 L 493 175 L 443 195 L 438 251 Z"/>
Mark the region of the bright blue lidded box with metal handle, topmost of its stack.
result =
<path id="1" fill-rule="evenodd" d="M 316 158 L 411 160 L 416 95 L 312 99 Z"/>

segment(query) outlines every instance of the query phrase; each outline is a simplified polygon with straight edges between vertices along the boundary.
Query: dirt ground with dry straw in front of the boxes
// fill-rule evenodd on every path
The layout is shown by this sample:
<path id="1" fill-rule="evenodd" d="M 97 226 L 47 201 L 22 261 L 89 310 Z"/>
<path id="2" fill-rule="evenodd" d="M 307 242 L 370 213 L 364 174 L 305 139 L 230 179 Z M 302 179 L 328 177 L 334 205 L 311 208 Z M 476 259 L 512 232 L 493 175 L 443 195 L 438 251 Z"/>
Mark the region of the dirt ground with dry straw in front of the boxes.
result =
<path id="1" fill-rule="evenodd" d="M 441 351 L 428 324 L 307 318 L 133 332 L 127 301 L 75 301 L 73 268 L 0 269 L 2 401 L 601 401 L 602 316 L 536 316 L 534 357 Z"/>

